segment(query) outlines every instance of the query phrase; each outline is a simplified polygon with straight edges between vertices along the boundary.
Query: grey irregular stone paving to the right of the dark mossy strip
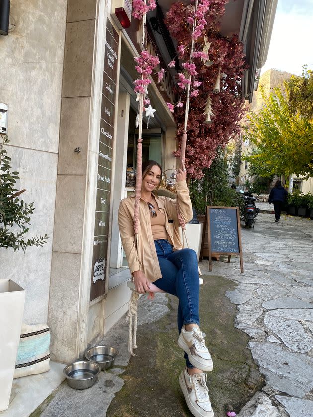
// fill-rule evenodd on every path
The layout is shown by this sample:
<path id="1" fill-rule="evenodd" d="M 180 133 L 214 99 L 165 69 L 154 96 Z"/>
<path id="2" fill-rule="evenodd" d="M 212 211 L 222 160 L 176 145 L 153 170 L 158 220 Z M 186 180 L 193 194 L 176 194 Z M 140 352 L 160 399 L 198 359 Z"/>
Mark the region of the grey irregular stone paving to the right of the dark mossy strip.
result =
<path id="1" fill-rule="evenodd" d="M 200 267 L 238 283 L 226 296 L 266 381 L 237 417 L 313 417 L 313 220 L 274 219 L 261 213 L 242 227 L 244 273 L 238 259 Z"/>

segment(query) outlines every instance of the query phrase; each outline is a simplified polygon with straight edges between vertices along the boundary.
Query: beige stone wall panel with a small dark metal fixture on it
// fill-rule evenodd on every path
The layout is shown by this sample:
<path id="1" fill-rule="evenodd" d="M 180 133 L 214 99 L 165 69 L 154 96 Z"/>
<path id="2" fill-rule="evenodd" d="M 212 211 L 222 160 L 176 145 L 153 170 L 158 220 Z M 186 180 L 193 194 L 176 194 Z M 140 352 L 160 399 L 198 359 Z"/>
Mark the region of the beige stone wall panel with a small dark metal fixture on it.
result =
<path id="1" fill-rule="evenodd" d="M 90 97 L 62 99 L 58 174 L 86 175 L 89 107 Z"/>

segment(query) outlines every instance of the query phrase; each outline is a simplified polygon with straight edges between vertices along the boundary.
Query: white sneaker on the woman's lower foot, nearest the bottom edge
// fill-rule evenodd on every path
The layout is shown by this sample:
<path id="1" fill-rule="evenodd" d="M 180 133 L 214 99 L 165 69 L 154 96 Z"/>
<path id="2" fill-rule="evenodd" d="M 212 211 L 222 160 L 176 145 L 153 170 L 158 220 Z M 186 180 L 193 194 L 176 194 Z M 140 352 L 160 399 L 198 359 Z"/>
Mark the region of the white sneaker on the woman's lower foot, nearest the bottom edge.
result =
<path id="1" fill-rule="evenodd" d="M 214 416 L 206 382 L 207 374 L 204 372 L 189 375 L 185 368 L 179 375 L 180 388 L 189 410 L 195 417 Z"/>

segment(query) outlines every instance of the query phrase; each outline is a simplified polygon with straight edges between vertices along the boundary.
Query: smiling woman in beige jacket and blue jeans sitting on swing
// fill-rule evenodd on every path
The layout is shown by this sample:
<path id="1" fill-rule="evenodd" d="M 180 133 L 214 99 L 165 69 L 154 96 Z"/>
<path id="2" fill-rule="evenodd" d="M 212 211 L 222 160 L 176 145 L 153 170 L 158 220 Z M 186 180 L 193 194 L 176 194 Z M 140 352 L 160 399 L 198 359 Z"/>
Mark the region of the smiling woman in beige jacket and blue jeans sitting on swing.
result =
<path id="1" fill-rule="evenodd" d="M 199 328 L 197 254 L 193 249 L 182 249 L 176 200 L 152 193 L 157 191 L 161 178 L 162 168 L 156 161 L 143 163 L 138 248 L 133 221 L 135 194 L 120 203 L 120 235 L 136 291 L 150 292 L 153 283 L 159 290 L 178 297 L 178 345 L 185 351 L 186 360 L 179 384 L 191 413 L 212 417 L 204 371 L 211 371 L 213 363 Z M 188 222 L 193 213 L 186 170 L 177 171 L 176 191 L 180 214 Z"/>

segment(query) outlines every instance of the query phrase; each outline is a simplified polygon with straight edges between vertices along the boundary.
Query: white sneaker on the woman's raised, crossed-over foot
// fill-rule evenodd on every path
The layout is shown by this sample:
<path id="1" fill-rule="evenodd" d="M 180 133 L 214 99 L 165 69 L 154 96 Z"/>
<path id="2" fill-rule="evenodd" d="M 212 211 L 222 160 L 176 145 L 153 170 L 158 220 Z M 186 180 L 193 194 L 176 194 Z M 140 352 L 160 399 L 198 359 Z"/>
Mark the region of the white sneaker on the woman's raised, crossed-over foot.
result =
<path id="1" fill-rule="evenodd" d="M 183 326 L 178 338 L 178 345 L 187 353 L 188 359 L 193 366 L 202 371 L 212 371 L 212 358 L 205 346 L 202 332 L 198 327 L 193 327 L 192 330 L 186 331 L 185 326 Z"/>

